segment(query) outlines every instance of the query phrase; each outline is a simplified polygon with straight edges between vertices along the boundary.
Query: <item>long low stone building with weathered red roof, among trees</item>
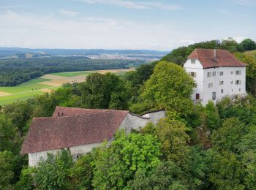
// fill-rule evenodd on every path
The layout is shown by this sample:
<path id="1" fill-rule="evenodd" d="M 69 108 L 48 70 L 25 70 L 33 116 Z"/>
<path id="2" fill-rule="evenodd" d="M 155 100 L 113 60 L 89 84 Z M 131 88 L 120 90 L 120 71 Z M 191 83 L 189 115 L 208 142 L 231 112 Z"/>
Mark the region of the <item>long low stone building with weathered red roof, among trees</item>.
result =
<path id="1" fill-rule="evenodd" d="M 165 111 L 135 115 L 124 110 L 91 110 L 56 107 L 52 117 L 33 118 L 20 153 L 29 153 L 29 166 L 37 166 L 47 153 L 70 151 L 73 159 L 91 151 L 104 141 L 113 140 L 118 129 L 129 132 L 146 123 L 165 118 Z"/>

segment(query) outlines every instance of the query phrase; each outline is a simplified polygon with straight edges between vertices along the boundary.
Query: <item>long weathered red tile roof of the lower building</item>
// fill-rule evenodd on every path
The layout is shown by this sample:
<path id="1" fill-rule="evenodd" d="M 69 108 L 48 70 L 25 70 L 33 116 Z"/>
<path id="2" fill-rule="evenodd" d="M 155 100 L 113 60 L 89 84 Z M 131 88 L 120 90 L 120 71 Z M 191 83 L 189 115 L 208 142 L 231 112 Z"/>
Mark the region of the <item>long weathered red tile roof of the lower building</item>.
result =
<path id="1" fill-rule="evenodd" d="M 59 111 L 64 116 L 56 117 Z M 20 153 L 36 153 L 110 140 L 128 113 L 122 110 L 56 107 L 52 118 L 33 119 Z"/>

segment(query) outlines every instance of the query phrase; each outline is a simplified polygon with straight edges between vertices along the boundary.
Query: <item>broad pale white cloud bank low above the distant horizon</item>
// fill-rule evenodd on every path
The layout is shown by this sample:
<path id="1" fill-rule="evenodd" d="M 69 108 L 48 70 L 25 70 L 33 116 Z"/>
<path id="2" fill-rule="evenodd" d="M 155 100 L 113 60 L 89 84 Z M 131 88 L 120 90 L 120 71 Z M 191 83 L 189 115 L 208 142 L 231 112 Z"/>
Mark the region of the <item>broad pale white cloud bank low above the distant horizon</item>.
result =
<path id="1" fill-rule="evenodd" d="M 151 23 L 113 18 L 60 18 L 55 14 L 36 16 L 8 10 L 0 13 L 0 47 L 104 48 L 171 50 L 211 39 L 233 36 L 241 41 L 251 30 L 208 28 L 180 23 Z M 251 32 L 251 33 L 250 33 Z"/>

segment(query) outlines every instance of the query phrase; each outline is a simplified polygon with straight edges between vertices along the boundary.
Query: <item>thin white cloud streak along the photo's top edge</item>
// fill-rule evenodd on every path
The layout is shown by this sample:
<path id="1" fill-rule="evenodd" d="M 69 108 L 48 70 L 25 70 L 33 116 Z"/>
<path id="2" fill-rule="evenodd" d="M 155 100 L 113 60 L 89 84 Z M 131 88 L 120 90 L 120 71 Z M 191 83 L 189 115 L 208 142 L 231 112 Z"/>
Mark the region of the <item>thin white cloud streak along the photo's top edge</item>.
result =
<path id="1" fill-rule="evenodd" d="M 164 4 L 160 1 L 125 1 L 125 0 L 74 0 L 81 1 L 88 4 L 108 4 L 118 7 L 125 7 L 127 9 L 167 9 L 177 10 L 183 9 L 178 4 Z"/>

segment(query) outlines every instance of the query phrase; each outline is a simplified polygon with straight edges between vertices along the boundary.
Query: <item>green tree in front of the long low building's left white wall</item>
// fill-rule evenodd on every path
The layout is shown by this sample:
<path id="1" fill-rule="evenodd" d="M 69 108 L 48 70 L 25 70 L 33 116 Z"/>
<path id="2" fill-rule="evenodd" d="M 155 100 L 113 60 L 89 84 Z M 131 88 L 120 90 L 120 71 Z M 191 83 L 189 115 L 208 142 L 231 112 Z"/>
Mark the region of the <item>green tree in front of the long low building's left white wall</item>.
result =
<path id="1" fill-rule="evenodd" d="M 48 154 L 45 161 L 40 161 L 35 180 L 37 189 L 69 189 L 69 170 L 73 165 L 69 151 L 61 151 L 56 156 Z"/>

